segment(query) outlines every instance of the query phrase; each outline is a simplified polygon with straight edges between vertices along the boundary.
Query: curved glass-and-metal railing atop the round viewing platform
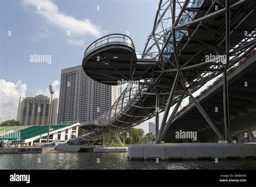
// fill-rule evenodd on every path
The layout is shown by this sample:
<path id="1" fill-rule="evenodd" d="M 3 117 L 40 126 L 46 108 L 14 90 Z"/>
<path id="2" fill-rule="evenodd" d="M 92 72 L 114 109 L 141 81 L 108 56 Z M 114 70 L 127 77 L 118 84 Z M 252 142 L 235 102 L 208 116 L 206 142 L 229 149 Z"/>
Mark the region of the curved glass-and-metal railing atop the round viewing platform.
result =
<path id="1" fill-rule="evenodd" d="M 109 44 L 111 42 L 120 42 L 121 44 L 126 44 L 134 49 L 135 47 L 133 45 L 132 39 L 124 34 L 109 34 L 105 35 L 102 38 L 99 38 L 98 40 L 94 41 L 90 46 L 88 46 L 84 52 L 84 55 L 88 54 L 90 51 L 92 51 L 95 48 L 98 48 L 104 44 Z"/>

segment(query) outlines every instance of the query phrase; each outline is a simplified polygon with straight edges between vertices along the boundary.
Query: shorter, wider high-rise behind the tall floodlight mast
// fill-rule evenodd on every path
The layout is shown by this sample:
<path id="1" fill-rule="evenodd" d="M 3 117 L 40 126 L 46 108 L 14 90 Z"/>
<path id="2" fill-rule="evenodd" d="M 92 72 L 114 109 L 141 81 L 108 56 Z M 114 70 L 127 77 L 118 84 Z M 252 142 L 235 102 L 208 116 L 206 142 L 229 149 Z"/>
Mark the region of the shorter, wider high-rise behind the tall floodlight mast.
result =
<path id="1" fill-rule="evenodd" d="M 58 99 L 52 100 L 51 124 L 57 122 Z M 23 125 L 47 125 L 50 122 L 50 98 L 44 95 L 19 97 L 17 120 Z"/>

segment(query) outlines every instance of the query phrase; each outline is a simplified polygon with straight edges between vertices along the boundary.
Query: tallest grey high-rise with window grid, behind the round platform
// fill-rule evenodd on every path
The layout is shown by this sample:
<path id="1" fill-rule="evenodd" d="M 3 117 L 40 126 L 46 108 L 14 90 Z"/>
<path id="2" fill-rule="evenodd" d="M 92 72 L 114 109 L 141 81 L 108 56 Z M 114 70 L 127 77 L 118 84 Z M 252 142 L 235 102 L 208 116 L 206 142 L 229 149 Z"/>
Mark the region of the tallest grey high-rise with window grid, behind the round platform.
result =
<path id="1" fill-rule="evenodd" d="M 58 124 L 94 123 L 110 109 L 121 88 L 99 83 L 88 77 L 82 66 L 62 69 L 60 78 Z"/>

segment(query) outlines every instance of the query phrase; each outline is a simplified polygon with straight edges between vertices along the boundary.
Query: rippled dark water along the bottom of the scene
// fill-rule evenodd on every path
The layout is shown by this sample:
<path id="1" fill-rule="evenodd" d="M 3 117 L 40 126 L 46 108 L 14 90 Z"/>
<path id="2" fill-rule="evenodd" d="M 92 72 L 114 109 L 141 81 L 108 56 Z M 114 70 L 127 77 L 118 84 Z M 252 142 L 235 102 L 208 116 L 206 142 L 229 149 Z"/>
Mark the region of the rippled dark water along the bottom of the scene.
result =
<path id="1" fill-rule="evenodd" d="M 127 161 L 127 153 L 2 154 L 0 169 L 255 169 L 256 160 Z M 97 163 L 97 159 L 99 162 Z M 41 163 L 38 163 L 38 159 Z"/>

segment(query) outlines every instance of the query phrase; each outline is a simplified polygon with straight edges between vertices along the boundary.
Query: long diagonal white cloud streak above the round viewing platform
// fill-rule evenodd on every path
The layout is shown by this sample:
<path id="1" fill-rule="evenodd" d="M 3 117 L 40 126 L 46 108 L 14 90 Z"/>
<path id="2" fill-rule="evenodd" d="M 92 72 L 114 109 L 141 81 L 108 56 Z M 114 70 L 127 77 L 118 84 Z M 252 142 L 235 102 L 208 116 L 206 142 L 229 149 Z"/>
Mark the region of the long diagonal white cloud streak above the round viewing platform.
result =
<path id="1" fill-rule="evenodd" d="M 93 35 L 96 38 L 106 34 L 100 25 L 92 23 L 89 19 L 76 19 L 73 16 L 60 12 L 58 6 L 51 0 L 23 0 L 25 5 L 31 6 L 38 15 L 41 15 L 51 24 L 64 30 L 70 31 L 72 37 Z M 38 10 L 40 8 L 40 10 Z"/>

